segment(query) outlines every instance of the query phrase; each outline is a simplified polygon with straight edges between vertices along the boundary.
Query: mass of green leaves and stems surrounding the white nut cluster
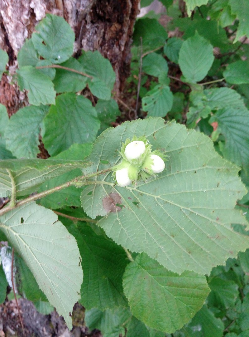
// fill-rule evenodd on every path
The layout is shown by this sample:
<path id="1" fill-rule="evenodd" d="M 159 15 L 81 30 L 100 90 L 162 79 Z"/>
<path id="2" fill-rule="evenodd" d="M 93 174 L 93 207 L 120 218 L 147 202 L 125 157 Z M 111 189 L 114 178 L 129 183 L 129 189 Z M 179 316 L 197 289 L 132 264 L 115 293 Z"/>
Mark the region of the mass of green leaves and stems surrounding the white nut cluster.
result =
<path id="1" fill-rule="evenodd" d="M 72 56 L 63 18 L 47 14 L 25 41 L 11 76 L 30 105 L 10 119 L 0 105 L 0 239 L 19 294 L 70 328 L 78 300 L 106 337 L 247 337 L 248 3 L 161 2 L 172 19 L 136 21 L 119 97 L 99 51 Z M 0 51 L 0 74 L 7 62 Z M 133 136 L 166 168 L 120 187 L 112 172 Z M 6 285 L 0 269 L 1 301 Z"/>

